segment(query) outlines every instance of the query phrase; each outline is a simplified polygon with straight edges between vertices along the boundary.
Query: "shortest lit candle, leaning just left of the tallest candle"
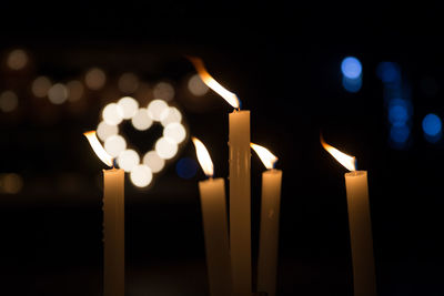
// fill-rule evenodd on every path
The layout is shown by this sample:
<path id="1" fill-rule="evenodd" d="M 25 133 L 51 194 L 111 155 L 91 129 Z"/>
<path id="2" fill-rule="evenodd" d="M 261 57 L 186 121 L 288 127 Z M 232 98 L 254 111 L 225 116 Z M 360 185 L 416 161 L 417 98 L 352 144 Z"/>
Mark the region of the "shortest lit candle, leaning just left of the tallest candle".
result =
<path id="1" fill-rule="evenodd" d="M 209 180 L 199 182 L 206 268 L 211 296 L 231 295 L 230 246 L 226 221 L 225 183 L 213 178 L 213 163 L 201 141 L 193 143 L 202 170 Z"/>

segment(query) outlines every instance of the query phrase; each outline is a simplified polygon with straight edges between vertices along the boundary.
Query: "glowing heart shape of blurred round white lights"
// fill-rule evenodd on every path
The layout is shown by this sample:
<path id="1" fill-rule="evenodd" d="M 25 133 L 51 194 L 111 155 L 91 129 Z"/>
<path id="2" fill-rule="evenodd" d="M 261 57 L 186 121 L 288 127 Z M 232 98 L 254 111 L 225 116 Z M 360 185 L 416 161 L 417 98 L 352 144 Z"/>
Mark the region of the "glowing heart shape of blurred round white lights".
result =
<path id="1" fill-rule="evenodd" d="M 186 139 L 182 120 L 179 109 L 163 100 L 153 100 L 147 108 L 140 108 L 137 100 L 124 96 L 103 108 L 97 134 L 104 150 L 115 157 L 119 167 L 130 174 L 131 182 L 138 187 L 145 187 L 152 182 L 153 174 L 161 172 L 165 163 L 178 154 L 180 144 Z M 140 149 L 131 147 L 120 133 L 119 126 L 124 121 L 131 121 L 132 126 L 141 132 L 159 124 L 162 136 L 152 150 L 140 155 Z"/>

